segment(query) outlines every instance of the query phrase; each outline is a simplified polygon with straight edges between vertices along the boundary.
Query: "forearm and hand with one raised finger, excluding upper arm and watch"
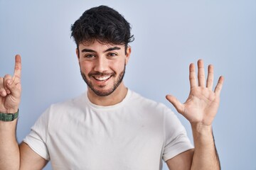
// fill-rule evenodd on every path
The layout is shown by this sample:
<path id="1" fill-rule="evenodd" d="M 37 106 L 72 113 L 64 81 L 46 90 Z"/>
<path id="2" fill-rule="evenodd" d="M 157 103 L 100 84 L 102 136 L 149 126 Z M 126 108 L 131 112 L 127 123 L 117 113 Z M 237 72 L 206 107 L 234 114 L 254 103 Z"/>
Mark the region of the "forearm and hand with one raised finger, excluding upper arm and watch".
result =
<path id="1" fill-rule="evenodd" d="M 21 100 L 21 57 L 16 55 L 14 77 L 0 77 L 0 112 L 16 113 Z M 11 122 L 0 120 L 0 169 L 19 168 L 19 149 L 16 141 L 17 119 Z"/>

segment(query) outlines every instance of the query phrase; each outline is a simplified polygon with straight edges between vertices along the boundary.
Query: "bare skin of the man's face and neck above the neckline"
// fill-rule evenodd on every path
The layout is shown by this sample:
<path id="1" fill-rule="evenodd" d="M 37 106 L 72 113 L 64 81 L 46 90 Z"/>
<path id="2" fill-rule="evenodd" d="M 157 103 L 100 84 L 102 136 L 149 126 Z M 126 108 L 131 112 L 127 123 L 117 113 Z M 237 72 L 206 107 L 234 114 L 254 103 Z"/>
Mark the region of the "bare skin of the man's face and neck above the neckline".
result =
<path id="1" fill-rule="evenodd" d="M 87 79 L 87 84 L 91 86 L 87 90 L 90 101 L 100 106 L 111 106 L 122 101 L 127 94 L 127 88 L 123 81 L 119 82 L 120 74 L 124 74 L 125 65 L 131 54 L 131 47 L 127 47 L 125 54 L 124 45 L 106 45 L 94 41 L 80 43 L 76 53 L 80 71 L 84 74 L 84 79 Z M 96 77 L 97 79 L 95 79 Z M 104 79 L 104 77 L 110 78 L 105 81 L 98 80 Z M 119 84 L 119 86 L 114 88 L 115 84 Z M 98 94 L 95 94 L 95 91 L 98 91 Z M 99 94 L 107 95 L 100 96 Z"/>

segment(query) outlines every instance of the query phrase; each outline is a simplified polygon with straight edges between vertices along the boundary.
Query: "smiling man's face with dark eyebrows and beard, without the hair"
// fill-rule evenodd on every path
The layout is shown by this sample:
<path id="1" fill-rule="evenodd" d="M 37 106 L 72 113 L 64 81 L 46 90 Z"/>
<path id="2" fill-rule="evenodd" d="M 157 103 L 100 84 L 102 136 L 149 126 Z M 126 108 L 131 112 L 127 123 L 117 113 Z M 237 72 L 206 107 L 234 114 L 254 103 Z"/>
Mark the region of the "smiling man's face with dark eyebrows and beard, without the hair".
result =
<path id="1" fill-rule="evenodd" d="M 102 44 L 96 40 L 80 43 L 78 48 L 80 72 L 88 90 L 97 96 L 112 94 L 122 83 L 130 48 L 125 54 L 124 45 Z"/>

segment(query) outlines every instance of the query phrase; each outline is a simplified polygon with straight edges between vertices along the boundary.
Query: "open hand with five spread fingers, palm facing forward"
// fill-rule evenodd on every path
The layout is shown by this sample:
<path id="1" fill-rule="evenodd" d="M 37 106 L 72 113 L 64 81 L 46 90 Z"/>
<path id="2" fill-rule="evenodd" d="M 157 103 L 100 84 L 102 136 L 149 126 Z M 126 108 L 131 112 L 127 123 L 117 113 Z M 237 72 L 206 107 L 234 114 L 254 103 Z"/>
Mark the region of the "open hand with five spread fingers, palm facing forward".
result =
<path id="1" fill-rule="evenodd" d="M 198 60 L 198 84 L 196 83 L 195 65 L 189 66 L 189 81 L 191 91 L 185 103 L 181 103 L 174 96 L 167 95 L 178 113 L 181 113 L 191 125 L 200 123 L 201 125 L 212 125 L 213 119 L 218 111 L 220 103 L 220 91 L 224 78 L 218 79 L 218 84 L 213 91 L 213 65 L 208 66 L 208 77 L 205 85 L 205 72 L 203 60 Z"/>

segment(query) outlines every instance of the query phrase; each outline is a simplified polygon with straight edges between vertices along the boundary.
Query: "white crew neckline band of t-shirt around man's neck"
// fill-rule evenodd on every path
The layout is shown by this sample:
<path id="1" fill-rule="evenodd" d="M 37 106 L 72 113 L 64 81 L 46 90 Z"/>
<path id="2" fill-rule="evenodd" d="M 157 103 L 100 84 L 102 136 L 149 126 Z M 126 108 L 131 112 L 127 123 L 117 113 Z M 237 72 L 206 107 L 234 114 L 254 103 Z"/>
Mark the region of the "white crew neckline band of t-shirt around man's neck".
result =
<path id="1" fill-rule="evenodd" d="M 130 91 L 129 89 L 127 90 L 127 95 L 124 97 L 124 99 L 117 103 L 117 104 L 114 104 L 114 105 L 111 105 L 111 106 L 99 106 L 99 105 L 96 105 L 94 103 L 92 103 L 89 98 L 88 98 L 88 95 L 87 95 L 87 92 L 85 93 L 85 100 L 86 102 L 88 103 L 88 105 L 95 109 L 95 110 L 102 110 L 102 111 L 107 111 L 107 110 L 112 110 L 112 109 L 117 109 L 117 108 L 121 108 L 125 103 L 127 103 L 129 97 L 132 95 L 132 91 Z"/>

